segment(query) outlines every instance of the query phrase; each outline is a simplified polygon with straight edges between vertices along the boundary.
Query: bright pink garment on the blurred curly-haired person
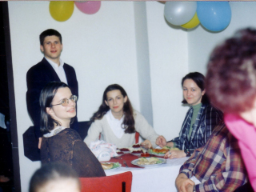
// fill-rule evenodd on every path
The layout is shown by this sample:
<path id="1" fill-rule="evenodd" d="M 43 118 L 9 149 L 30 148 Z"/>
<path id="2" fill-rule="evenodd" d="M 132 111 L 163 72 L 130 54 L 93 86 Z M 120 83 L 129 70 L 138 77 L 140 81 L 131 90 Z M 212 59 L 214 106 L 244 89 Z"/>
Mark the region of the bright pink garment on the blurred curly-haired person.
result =
<path id="1" fill-rule="evenodd" d="M 250 184 L 256 191 L 256 128 L 235 114 L 225 114 L 224 121 L 231 134 L 238 139 Z"/>

